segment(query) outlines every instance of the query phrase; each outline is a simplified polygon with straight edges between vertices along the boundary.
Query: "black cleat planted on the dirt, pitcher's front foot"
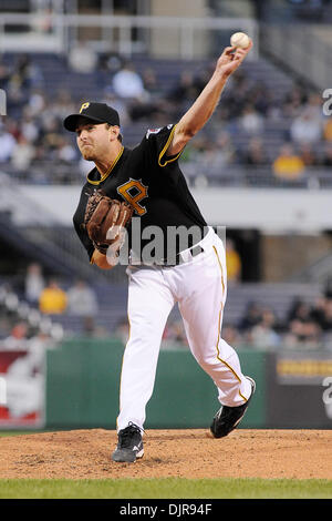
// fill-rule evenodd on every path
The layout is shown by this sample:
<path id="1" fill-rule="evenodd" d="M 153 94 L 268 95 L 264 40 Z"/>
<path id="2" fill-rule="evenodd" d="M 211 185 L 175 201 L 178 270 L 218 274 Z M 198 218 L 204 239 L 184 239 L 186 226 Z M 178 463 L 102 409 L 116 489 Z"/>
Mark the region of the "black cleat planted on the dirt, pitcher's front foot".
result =
<path id="1" fill-rule="evenodd" d="M 112 454 L 113 461 L 134 463 L 144 454 L 139 427 L 129 422 L 128 427 L 118 431 L 118 442 Z"/>

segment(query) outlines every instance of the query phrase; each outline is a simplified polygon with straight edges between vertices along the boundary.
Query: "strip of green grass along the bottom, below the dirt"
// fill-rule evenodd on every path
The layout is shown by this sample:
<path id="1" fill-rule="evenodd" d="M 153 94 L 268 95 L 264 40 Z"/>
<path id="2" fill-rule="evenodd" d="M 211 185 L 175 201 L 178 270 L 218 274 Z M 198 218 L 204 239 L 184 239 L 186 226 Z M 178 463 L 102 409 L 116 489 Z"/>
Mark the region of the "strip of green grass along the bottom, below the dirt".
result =
<path id="1" fill-rule="evenodd" d="M 14 479 L 1 499 L 331 499 L 332 480 L 292 479 Z"/>

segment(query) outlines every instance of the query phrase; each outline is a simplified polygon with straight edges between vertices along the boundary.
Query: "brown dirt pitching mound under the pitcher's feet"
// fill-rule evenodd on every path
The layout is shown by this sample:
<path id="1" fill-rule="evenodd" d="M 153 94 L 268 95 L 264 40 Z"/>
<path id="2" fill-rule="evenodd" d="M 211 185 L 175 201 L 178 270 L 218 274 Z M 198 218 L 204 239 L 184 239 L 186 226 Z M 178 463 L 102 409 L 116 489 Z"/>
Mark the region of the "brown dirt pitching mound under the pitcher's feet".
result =
<path id="1" fill-rule="evenodd" d="M 145 456 L 114 463 L 115 431 L 93 429 L 2 438 L 0 478 L 325 478 L 332 431 L 245 430 L 216 440 L 207 430 L 147 430 Z"/>

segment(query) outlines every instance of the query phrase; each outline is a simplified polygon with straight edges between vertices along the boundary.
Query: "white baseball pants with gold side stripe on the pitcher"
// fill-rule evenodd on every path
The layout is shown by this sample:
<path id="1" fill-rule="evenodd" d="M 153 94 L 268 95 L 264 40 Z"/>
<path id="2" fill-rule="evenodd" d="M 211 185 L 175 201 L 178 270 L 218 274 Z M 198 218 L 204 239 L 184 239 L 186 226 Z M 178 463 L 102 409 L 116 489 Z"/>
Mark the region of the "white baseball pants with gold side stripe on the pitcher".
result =
<path id="1" fill-rule="evenodd" d="M 129 338 L 123 357 L 117 431 L 129 421 L 144 426 L 162 336 L 176 303 L 189 348 L 216 384 L 220 403 L 236 407 L 251 394 L 237 353 L 220 336 L 227 294 L 224 244 L 212 228 L 198 244 L 204 253 L 196 257 L 181 253 L 188 260 L 178 266 L 128 268 Z"/>

